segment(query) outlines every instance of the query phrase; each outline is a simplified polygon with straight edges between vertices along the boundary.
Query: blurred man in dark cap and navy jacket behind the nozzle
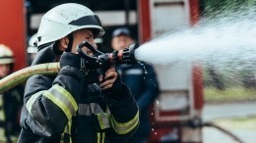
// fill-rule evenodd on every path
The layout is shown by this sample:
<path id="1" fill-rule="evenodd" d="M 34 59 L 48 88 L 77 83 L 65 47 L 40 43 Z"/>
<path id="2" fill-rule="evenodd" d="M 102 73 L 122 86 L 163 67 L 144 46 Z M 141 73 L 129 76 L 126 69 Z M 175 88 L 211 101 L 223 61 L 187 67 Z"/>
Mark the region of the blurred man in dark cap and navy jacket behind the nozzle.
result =
<path id="1" fill-rule="evenodd" d="M 122 50 L 133 43 L 134 39 L 127 27 L 119 27 L 113 31 L 111 45 L 114 50 Z M 160 92 L 157 74 L 154 68 L 146 63 L 120 65 L 118 72 L 123 82 L 131 89 L 141 114 L 140 126 L 129 143 L 148 143 L 152 130 L 150 107 Z"/>

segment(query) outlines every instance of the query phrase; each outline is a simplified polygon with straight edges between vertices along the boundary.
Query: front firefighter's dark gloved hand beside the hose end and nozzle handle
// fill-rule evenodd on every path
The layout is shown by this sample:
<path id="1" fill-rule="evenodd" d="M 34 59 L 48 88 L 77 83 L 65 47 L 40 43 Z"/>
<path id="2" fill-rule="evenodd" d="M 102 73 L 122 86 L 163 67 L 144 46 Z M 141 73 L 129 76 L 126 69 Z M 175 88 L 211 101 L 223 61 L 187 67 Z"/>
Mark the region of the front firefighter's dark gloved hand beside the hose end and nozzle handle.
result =
<path id="1" fill-rule="evenodd" d="M 64 52 L 60 58 L 60 68 L 62 69 L 66 66 L 76 68 L 82 71 L 85 75 L 88 74 L 85 60 L 82 59 L 78 54 Z"/>

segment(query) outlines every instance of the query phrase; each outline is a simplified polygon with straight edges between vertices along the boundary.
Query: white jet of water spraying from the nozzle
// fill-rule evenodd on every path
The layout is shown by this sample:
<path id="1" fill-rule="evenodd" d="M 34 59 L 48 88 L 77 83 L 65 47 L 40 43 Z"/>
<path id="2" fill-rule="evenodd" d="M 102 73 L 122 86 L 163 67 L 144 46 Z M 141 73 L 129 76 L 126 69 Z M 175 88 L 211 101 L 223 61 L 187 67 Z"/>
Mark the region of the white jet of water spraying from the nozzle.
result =
<path id="1" fill-rule="evenodd" d="M 236 68 L 256 64 L 256 12 L 201 20 L 193 27 L 166 32 L 135 51 L 138 60 L 154 65 L 201 61 Z"/>

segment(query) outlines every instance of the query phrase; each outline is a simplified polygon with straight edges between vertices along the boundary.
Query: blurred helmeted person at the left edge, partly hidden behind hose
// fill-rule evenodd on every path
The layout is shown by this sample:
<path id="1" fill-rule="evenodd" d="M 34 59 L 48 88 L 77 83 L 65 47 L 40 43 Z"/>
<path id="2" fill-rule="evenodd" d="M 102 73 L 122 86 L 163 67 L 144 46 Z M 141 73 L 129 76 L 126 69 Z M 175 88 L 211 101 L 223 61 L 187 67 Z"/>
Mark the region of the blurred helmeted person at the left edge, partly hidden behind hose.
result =
<path id="1" fill-rule="evenodd" d="M 13 51 L 0 44 L 0 79 L 13 71 L 15 59 Z M 23 106 L 22 85 L 18 85 L 0 95 L 0 142 L 17 142 L 21 126 L 20 112 Z"/>

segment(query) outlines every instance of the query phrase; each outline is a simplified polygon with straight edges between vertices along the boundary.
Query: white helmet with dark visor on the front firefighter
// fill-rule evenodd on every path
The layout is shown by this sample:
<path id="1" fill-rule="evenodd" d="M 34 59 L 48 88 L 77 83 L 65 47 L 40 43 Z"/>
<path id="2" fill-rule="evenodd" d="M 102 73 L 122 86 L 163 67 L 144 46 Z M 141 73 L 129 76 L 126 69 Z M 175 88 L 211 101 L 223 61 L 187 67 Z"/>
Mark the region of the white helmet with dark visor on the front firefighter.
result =
<path id="1" fill-rule="evenodd" d="M 59 5 L 41 18 L 37 46 L 59 40 L 82 28 L 96 29 L 95 37 L 104 34 L 98 17 L 89 8 L 75 3 Z"/>

